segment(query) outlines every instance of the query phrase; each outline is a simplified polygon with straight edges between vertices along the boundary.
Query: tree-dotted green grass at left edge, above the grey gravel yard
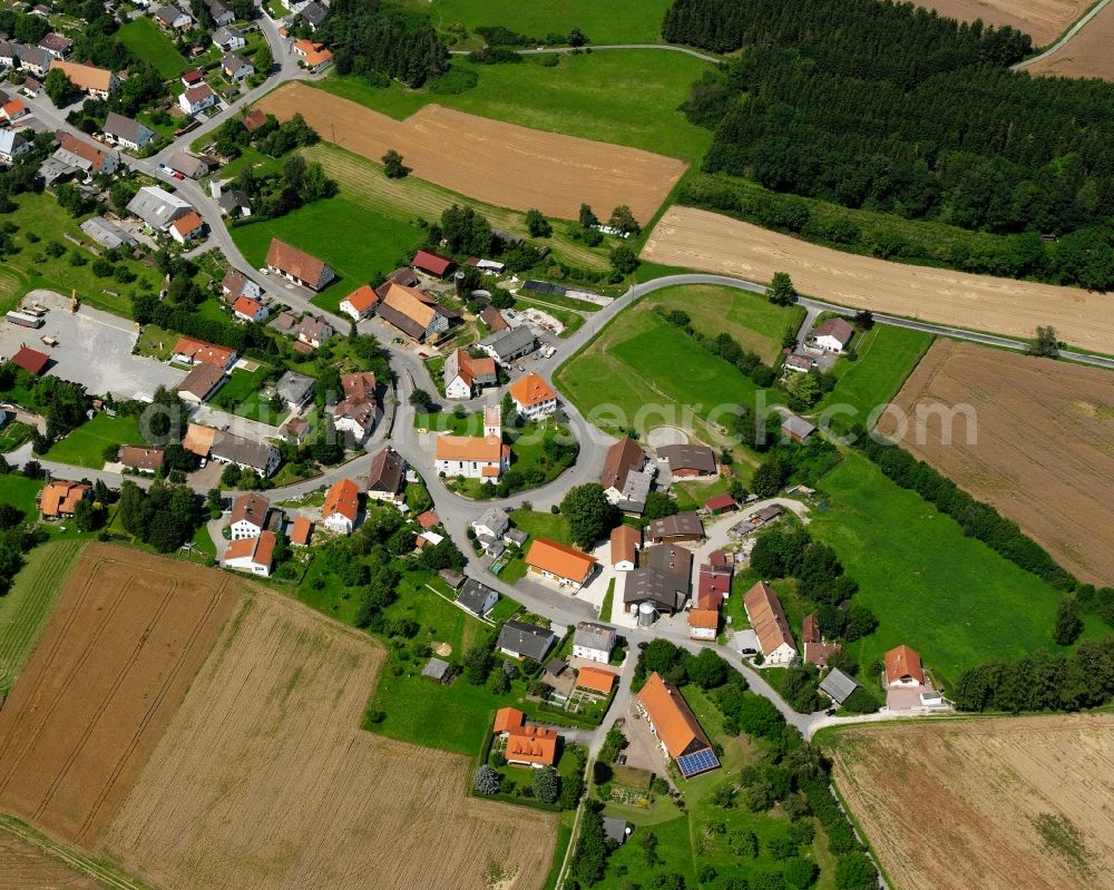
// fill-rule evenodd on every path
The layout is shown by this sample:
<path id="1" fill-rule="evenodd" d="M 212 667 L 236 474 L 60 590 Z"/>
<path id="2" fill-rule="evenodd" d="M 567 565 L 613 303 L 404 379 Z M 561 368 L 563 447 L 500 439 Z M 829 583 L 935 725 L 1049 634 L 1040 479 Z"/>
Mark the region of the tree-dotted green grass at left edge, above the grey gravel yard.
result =
<path id="1" fill-rule="evenodd" d="M 94 275 L 90 270 L 94 255 L 75 247 L 66 239 L 68 234 L 87 243 L 85 234 L 78 228 L 85 217 L 74 218 L 58 206 L 52 196 L 25 193 L 13 196 L 12 201 L 16 203 L 16 211 L 9 218 L 21 231 L 11 236 L 19 250 L 7 254 L 0 262 L 0 312 L 13 309 L 28 291 L 45 287 L 62 294 L 76 290 L 82 303 L 128 317 L 131 314 L 133 294 L 143 290 L 158 291 L 162 275 L 152 266 L 135 261 L 126 263 L 138 276 L 130 284 Z M 32 231 L 39 236 L 37 243 L 27 239 L 26 232 Z M 46 252 L 46 245 L 51 241 L 66 248 L 61 256 L 53 257 Z M 77 251 L 86 264 L 70 265 L 71 251 Z M 106 294 L 106 290 L 115 291 L 118 295 Z"/>

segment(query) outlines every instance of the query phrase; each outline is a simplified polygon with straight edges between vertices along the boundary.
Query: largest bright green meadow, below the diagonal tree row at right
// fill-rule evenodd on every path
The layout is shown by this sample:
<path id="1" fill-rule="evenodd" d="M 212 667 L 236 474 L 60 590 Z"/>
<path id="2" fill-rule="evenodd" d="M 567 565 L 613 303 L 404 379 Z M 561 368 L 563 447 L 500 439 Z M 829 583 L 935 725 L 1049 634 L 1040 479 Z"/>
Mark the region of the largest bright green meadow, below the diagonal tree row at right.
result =
<path id="1" fill-rule="evenodd" d="M 873 634 L 850 647 L 860 665 L 907 644 L 947 689 L 989 659 L 1056 648 L 1059 594 L 965 537 L 864 457 L 844 456 L 820 490 L 828 509 L 813 511 L 809 530 L 836 549 L 859 581 L 857 602 L 879 619 Z"/>

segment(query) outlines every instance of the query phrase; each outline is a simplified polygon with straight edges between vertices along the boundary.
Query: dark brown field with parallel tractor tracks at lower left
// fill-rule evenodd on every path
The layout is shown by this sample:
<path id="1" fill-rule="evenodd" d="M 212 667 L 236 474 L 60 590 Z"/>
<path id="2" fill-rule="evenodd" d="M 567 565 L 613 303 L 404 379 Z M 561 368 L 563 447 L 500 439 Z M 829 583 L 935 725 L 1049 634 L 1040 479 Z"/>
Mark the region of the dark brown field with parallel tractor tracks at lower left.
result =
<path id="1" fill-rule="evenodd" d="M 88 547 L 0 708 L 0 810 L 94 844 L 233 599 L 219 573 Z"/>

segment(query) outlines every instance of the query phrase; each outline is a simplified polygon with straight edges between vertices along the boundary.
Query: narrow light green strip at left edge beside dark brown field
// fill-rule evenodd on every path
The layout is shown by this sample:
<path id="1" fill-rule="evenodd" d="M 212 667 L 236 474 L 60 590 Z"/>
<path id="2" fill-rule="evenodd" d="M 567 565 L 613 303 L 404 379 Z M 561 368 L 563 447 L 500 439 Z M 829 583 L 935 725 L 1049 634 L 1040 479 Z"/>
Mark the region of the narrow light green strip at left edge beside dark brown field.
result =
<path id="1" fill-rule="evenodd" d="M 11 589 L 0 597 L 0 692 L 11 688 L 35 648 L 62 581 L 84 546 L 82 540 L 68 540 L 35 548 Z"/>

